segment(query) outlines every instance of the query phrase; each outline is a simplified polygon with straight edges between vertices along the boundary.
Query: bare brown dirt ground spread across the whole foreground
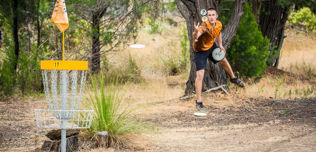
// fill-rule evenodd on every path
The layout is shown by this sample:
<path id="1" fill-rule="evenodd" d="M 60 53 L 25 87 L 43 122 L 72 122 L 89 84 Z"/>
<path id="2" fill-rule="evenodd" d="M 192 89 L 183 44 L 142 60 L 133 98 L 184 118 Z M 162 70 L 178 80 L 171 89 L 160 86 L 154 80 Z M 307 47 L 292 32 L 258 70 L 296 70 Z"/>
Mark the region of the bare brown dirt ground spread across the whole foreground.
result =
<path id="1" fill-rule="evenodd" d="M 193 103 L 156 102 L 137 115 L 163 130 L 147 151 L 316 151 L 316 99 L 250 98 L 248 110 L 206 102 L 204 117 Z M 36 127 L 35 109 L 47 109 L 46 100 L 0 102 L 0 151 L 40 151 L 47 129 Z"/>

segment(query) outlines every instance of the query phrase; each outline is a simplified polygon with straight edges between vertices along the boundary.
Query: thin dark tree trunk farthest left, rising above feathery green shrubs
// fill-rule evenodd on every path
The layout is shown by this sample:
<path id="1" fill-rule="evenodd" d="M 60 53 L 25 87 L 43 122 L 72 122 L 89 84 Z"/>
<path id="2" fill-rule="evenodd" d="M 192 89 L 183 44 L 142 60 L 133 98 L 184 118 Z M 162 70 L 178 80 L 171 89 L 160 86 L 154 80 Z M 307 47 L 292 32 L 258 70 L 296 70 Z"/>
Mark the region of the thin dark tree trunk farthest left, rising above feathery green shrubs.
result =
<path id="1" fill-rule="evenodd" d="M 14 55 L 15 55 L 15 61 L 14 61 L 14 69 L 16 71 L 17 65 L 18 65 L 18 58 L 20 53 L 20 47 L 19 47 L 19 37 L 18 37 L 18 0 L 13 1 L 13 27 L 12 27 L 12 34 L 13 34 L 13 41 L 14 41 Z M 14 74 L 15 75 L 15 74 Z"/>

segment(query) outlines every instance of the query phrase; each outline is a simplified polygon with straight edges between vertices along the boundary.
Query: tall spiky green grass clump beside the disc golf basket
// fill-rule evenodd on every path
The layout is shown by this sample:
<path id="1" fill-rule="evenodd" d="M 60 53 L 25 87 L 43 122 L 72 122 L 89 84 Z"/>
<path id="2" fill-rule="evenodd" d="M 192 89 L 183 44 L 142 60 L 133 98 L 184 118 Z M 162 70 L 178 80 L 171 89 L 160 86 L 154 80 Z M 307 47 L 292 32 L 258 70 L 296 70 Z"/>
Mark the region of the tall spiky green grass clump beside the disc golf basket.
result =
<path id="1" fill-rule="evenodd" d="M 136 120 L 134 112 L 140 106 L 131 106 L 124 95 L 128 87 L 123 86 L 120 76 L 108 77 L 103 72 L 90 74 L 88 97 L 85 106 L 94 111 L 91 127 L 85 130 L 89 137 L 98 131 L 108 131 L 111 147 L 142 149 L 140 144 L 155 133 L 153 125 Z"/>

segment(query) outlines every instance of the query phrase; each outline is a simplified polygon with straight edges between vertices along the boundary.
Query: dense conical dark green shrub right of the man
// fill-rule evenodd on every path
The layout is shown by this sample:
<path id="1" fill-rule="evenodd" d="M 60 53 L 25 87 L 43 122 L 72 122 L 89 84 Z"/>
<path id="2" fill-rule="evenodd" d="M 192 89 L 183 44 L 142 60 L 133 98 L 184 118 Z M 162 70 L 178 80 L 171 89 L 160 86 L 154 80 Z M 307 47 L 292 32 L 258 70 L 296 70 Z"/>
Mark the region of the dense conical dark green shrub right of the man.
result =
<path id="1" fill-rule="evenodd" d="M 269 40 L 262 36 L 250 6 L 245 4 L 244 16 L 227 49 L 228 62 L 240 76 L 260 78 L 270 55 L 268 47 Z"/>

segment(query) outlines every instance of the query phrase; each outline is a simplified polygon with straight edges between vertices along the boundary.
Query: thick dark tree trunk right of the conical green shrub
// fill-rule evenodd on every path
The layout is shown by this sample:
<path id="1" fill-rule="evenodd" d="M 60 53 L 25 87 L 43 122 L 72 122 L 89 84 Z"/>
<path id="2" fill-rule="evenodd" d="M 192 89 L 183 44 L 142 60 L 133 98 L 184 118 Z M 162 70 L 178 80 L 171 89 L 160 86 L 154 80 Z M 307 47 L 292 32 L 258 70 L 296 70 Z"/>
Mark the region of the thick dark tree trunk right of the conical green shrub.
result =
<path id="1" fill-rule="evenodd" d="M 273 55 L 268 58 L 266 64 L 277 68 L 280 50 L 284 40 L 284 28 L 288 19 L 289 6 L 284 8 L 277 0 L 263 1 L 260 9 L 259 27 L 262 35 L 270 40 L 270 51 Z"/>

